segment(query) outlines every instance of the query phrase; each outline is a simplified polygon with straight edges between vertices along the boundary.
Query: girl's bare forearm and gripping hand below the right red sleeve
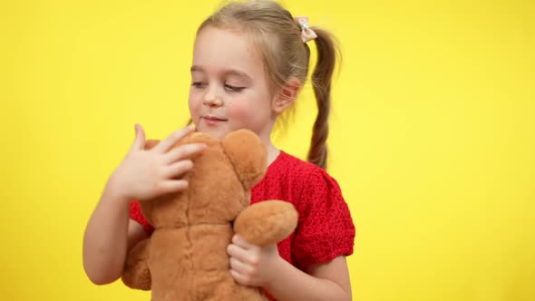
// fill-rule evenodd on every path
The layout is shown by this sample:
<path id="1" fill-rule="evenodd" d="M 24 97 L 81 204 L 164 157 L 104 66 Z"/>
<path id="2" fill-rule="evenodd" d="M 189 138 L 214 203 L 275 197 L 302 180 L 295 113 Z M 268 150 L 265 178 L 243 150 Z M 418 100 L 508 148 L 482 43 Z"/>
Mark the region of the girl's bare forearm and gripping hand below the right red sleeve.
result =
<path id="1" fill-rule="evenodd" d="M 345 257 L 303 272 L 279 257 L 277 246 L 260 248 L 235 236 L 228 248 L 230 274 L 246 286 L 262 286 L 279 301 L 351 300 L 351 283 Z"/>

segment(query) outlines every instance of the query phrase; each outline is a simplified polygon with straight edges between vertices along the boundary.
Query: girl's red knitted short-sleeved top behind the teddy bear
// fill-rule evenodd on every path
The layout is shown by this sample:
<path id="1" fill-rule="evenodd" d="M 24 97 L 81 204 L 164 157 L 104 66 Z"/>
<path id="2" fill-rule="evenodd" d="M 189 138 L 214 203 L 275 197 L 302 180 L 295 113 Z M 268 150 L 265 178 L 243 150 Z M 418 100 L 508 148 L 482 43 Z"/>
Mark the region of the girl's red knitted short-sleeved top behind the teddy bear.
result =
<path id="1" fill-rule="evenodd" d="M 316 165 L 280 151 L 277 159 L 251 190 L 251 203 L 281 199 L 299 213 L 297 229 L 277 244 L 280 257 L 305 267 L 353 253 L 355 226 L 336 180 Z M 151 233 L 138 202 L 131 202 L 131 218 Z"/>

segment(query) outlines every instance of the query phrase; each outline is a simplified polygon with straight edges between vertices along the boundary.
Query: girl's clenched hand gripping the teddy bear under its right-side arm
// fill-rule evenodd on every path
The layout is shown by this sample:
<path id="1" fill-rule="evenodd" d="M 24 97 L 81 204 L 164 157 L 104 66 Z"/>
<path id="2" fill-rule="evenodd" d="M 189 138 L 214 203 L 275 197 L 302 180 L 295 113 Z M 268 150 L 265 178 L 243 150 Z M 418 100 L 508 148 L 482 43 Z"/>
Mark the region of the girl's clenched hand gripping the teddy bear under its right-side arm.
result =
<path id="1" fill-rule="evenodd" d="M 244 286 L 267 286 L 277 277 L 277 245 L 258 247 L 234 235 L 227 248 L 230 257 L 230 275 Z"/>

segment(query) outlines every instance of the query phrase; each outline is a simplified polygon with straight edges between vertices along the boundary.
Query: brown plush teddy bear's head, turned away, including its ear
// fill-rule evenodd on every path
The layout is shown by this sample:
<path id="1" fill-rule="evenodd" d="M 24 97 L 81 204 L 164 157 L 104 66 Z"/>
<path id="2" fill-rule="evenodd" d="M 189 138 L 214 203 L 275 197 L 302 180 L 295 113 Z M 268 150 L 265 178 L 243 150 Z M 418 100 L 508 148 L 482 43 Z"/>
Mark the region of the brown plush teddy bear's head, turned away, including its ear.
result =
<path id="1" fill-rule="evenodd" d="M 250 189 L 266 172 L 266 148 L 252 131 L 233 131 L 221 140 L 195 132 L 174 147 L 198 142 L 208 148 L 192 159 L 193 169 L 183 177 L 188 189 L 140 202 L 154 228 L 229 223 L 248 207 Z"/>

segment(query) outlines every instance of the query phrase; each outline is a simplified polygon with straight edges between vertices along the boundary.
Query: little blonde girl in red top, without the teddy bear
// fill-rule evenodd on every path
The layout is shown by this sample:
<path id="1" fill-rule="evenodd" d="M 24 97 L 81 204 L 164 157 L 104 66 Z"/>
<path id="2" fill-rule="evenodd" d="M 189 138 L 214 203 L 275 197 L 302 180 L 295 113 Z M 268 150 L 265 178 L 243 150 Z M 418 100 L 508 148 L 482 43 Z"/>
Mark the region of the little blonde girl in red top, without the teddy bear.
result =
<path id="1" fill-rule="evenodd" d="M 191 121 L 197 131 L 219 138 L 243 128 L 256 132 L 268 150 L 268 171 L 252 189 L 251 203 L 284 199 L 299 212 L 296 231 L 277 246 L 260 248 L 235 236 L 227 249 L 230 275 L 262 287 L 274 300 L 351 300 L 345 257 L 353 253 L 355 227 L 336 180 L 325 171 L 336 47 L 330 34 L 307 22 L 271 1 L 230 3 L 209 16 L 194 46 Z M 306 81 L 311 41 L 317 49 L 312 84 L 318 114 L 306 162 L 277 150 L 270 135 Z M 186 189 L 180 176 L 206 147 L 171 150 L 195 131 L 190 126 L 143 150 L 144 131 L 140 125 L 135 130 L 131 150 L 108 180 L 85 231 L 83 266 L 95 284 L 121 277 L 128 250 L 151 235 L 132 199 Z"/>

